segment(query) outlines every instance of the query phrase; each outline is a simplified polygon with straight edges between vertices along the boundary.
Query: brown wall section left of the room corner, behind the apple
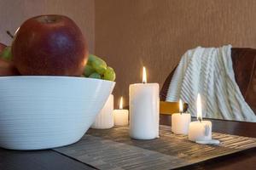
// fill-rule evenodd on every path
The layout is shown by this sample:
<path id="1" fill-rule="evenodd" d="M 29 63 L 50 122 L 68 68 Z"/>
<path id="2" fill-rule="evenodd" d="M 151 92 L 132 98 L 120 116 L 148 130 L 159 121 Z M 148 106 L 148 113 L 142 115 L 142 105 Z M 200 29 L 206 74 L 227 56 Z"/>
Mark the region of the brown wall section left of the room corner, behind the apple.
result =
<path id="1" fill-rule="evenodd" d="M 94 0 L 0 0 L 0 42 L 10 44 L 5 33 L 15 32 L 26 19 L 39 14 L 64 14 L 73 19 L 94 52 L 95 7 Z"/>

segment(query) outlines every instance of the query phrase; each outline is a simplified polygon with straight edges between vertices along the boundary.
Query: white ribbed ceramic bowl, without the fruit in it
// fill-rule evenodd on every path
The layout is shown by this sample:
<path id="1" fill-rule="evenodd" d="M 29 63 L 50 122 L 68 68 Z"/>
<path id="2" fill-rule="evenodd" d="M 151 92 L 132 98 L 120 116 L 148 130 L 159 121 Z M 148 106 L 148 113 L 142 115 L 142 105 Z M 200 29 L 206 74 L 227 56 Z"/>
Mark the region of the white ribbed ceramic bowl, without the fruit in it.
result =
<path id="1" fill-rule="evenodd" d="M 84 77 L 0 77 L 0 147 L 42 150 L 77 142 L 114 85 Z"/>

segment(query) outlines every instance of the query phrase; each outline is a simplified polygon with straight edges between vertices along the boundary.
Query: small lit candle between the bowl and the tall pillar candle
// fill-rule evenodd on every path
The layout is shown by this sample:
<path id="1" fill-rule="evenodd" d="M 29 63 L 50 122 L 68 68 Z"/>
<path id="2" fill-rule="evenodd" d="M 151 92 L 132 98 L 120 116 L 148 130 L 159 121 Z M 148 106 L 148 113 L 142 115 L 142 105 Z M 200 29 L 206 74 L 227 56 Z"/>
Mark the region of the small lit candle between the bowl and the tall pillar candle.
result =
<path id="1" fill-rule="evenodd" d="M 115 126 L 126 126 L 128 125 L 129 111 L 123 109 L 123 97 L 120 99 L 119 110 L 113 111 L 114 125 Z"/>

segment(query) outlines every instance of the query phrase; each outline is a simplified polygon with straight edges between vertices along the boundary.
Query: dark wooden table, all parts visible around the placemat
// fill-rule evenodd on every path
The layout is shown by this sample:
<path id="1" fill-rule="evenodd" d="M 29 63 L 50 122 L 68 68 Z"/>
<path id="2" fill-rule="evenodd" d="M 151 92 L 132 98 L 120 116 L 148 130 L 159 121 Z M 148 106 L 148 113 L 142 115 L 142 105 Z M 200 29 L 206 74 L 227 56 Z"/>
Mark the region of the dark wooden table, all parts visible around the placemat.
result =
<path id="1" fill-rule="evenodd" d="M 256 138 L 256 123 L 211 120 L 212 131 Z M 160 123 L 170 125 L 167 116 L 160 116 Z M 43 169 L 95 169 L 54 150 L 18 151 L 0 149 L 1 170 Z M 230 156 L 219 157 L 182 169 L 256 169 L 256 149 L 246 150 Z"/>

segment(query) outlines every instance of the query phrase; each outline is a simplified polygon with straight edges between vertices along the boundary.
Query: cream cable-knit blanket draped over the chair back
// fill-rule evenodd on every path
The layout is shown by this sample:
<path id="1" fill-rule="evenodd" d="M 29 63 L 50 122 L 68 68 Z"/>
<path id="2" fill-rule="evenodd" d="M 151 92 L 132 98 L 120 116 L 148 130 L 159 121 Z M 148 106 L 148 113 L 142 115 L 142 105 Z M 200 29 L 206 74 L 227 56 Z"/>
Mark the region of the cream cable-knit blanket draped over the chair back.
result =
<path id="1" fill-rule="evenodd" d="M 256 122 L 236 84 L 231 45 L 194 48 L 183 54 L 172 77 L 166 101 L 182 99 L 196 116 L 196 97 L 201 94 L 203 117 Z"/>

